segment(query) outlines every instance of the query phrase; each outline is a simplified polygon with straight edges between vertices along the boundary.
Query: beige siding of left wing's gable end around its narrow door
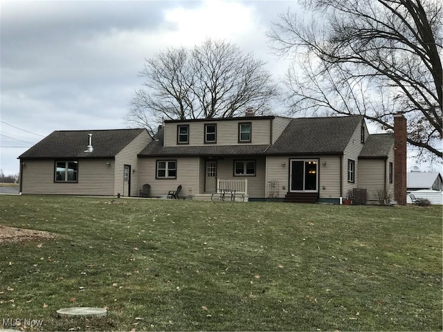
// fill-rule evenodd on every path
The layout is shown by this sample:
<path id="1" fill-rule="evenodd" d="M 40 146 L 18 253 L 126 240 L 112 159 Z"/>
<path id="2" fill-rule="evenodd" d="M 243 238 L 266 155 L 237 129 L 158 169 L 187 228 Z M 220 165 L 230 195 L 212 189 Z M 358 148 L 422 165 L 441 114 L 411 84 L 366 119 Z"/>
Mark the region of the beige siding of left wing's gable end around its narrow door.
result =
<path id="1" fill-rule="evenodd" d="M 137 154 L 146 147 L 146 145 L 151 142 L 152 138 L 147 133 L 147 131 L 142 131 L 134 140 L 129 142 L 126 147 L 124 147 L 116 155 L 116 167 L 115 167 L 115 187 L 114 195 L 123 195 L 123 168 L 124 165 L 131 166 L 131 193 L 130 196 L 138 196 L 140 194 L 141 187 L 144 183 L 139 181 L 138 177 L 138 158 Z"/>

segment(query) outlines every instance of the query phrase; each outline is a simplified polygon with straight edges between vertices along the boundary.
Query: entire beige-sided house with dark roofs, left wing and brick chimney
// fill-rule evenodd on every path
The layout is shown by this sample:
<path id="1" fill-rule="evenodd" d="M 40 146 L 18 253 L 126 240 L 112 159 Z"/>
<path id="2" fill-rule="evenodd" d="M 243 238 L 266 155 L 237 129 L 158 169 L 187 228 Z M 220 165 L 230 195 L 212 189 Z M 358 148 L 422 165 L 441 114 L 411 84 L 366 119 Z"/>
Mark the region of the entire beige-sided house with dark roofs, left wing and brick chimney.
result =
<path id="1" fill-rule="evenodd" d="M 397 118 L 404 120 L 401 115 Z M 133 140 L 120 142 L 121 149 L 132 151 L 130 162 L 125 161 L 129 154 L 124 157 L 120 150 L 100 151 L 95 131 L 79 133 L 82 137 L 93 134 L 92 153 L 84 151 L 84 138 L 76 138 L 70 148 L 75 153 L 64 154 L 62 147 L 51 148 L 57 143 L 51 138 L 55 132 L 42 141 L 51 138 L 43 145 L 51 153 L 38 147 L 39 142 L 19 157 L 21 164 L 26 164 L 21 167 L 22 192 L 138 196 L 138 190 L 147 183 L 152 197 L 164 197 L 181 185 L 182 196 L 208 199 L 221 187 L 235 186 L 249 201 L 340 203 L 355 188 L 365 190 L 367 203 L 377 203 L 379 192 L 395 194 L 401 203 L 406 202 L 406 120 L 401 121 L 395 134 L 370 135 L 363 116 L 284 118 L 248 113 L 237 118 L 168 120 L 154 139 L 141 129 L 126 129 L 138 132 Z M 64 132 L 63 139 L 69 139 L 71 133 L 77 135 L 75 131 Z M 118 131 L 109 135 L 114 133 Z M 139 149 L 134 155 L 136 147 Z M 96 151 L 100 156 L 92 158 Z M 105 190 L 98 173 L 112 160 L 114 178 L 106 181 Z M 397 166 L 395 160 L 403 161 Z M 57 164 L 59 161 L 66 165 Z M 31 162 L 36 165 L 31 167 Z M 69 181 L 60 183 L 56 178 L 59 166 L 69 178 L 69 163 L 75 162 L 77 190 Z M 44 165 L 37 167 L 37 163 Z M 81 163 L 89 163 L 88 172 L 96 172 L 96 176 L 89 178 L 88 174 L 86 182 L 80 180 L 86 176 Z M 122 189 L 125 164 L 136 169 L 129 192 Z M 38 174 L 43 168 L 44 179 Z M 400 188 L 398 193 L 396 187 Z"/>

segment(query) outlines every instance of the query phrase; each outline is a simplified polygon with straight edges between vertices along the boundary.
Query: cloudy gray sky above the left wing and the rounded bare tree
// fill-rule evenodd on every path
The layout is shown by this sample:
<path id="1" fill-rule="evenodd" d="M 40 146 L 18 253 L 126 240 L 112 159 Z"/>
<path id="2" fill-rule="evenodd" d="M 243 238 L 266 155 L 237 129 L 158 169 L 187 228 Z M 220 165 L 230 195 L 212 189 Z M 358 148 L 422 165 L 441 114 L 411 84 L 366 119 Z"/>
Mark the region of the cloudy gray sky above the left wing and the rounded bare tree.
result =
<path id="1" fill-rule="evenodd" d="M 224 39 L 267 62 L 287 62 L 267 30 L 296 1 L 1 1 L 0 167 L 55 130 L 125 128 L 145 58 L 170 46 Z"/>

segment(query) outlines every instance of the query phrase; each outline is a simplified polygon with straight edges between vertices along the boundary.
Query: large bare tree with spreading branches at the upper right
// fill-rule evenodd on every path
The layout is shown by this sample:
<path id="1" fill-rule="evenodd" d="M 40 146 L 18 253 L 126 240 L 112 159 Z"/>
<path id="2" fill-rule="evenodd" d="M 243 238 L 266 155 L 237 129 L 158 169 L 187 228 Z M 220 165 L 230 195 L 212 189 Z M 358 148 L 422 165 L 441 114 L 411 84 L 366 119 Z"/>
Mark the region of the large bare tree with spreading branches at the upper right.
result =
<path id="1" fill-rule="evenodd" d="M 443 3 L 301 2 L 320 19 L 306 23 L 288 11 L 269 33 L 275 50 L 299 60 L 286 80 L 291 110 L 362 114 L 384 129 L 401 111 L 408 142 L 442 158 Z"/>

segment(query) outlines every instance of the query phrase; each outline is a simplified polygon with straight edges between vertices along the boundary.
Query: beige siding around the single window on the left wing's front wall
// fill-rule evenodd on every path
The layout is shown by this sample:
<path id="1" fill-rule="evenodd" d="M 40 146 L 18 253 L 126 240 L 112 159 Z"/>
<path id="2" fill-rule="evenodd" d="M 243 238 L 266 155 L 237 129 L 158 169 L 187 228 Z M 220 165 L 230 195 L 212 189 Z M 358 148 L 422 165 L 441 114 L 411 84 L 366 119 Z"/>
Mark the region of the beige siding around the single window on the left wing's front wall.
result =
<path id="1" fill-rule="evenodd" d="M 114 159 L 79 159 L 77 183 L 54 182 L 55 160 L 26 160 L 24 163 L 21 173 L 23 194 L 114 194 Z"/>

